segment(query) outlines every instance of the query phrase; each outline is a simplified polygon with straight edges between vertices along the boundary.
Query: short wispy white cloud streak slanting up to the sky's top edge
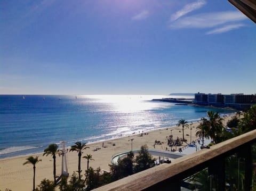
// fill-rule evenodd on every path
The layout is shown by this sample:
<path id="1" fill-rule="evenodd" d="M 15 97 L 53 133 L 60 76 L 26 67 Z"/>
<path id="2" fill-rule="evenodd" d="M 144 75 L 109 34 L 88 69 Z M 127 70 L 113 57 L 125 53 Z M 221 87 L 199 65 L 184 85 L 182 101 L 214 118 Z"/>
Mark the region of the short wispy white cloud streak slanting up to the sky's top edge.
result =
<path id="1" fill-rule="evenodd" d="M 171 16 L 171 21 L 175 21 L 175 20 L 179 19 L 181 16 L 184 16 L 194 10 L 200 9 L 205 4 L 206 4 L 206 1 L 204 1 L 204 0 L 198 0 L 194 3 L 189 3 L 189 4 L 185 5 L 181 10 L 175 12 Z"/>

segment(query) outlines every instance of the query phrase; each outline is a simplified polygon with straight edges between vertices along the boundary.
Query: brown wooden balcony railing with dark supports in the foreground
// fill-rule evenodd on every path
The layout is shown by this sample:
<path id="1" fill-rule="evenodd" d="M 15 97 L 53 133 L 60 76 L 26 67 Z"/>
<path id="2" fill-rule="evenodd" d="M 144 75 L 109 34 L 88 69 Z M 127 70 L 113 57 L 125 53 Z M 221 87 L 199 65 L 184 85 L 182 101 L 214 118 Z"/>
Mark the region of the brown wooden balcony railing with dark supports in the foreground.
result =
<path id="1" fill-rule="evenodd" d="M 209 176 L 214 176 L 218 181 L 218 184 L 214 185 L 214 190 L 225 190 L 230 187 L 226 181 L 227 177 L 230 177 L 230 175 L 226 175 L 227 158 L 230 156 L 236 156 L 239 164 L 241 164 L 240 159 L 243 159 L 244 178 L 243 181 L 239 180 L 239 170 L 242 165 L 240 167 L 238 164 L 238 175 L 234 175 L 238 176 L 238 180 L 235 182 L 238 185 L 236 187 L 252 190 L 252 145 L 254 143 L 256 143 L 256 130 L 213 145 L 209 149 L 182 156 L 171 164 L 150 168 L 95 190 L 181 190 L 185 180 L 191 179 L 193 175 L 205 169 Z M 199 182 L 198 186 L 200 187 Z M 195 190 L 195 188 L 191 188 L 191 190 Z"/>

